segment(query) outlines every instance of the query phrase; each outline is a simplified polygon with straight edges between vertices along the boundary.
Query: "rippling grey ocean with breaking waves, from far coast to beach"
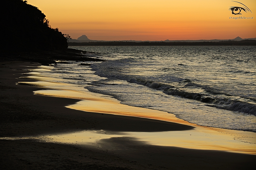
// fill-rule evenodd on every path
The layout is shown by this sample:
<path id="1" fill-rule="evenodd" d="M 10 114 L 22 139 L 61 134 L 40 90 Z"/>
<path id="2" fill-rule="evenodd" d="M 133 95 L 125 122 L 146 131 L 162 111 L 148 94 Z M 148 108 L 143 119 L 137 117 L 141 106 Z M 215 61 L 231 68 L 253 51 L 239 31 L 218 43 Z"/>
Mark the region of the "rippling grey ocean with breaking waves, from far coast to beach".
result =
<path id="1" fill-rule="evenodd" d="M 255 46 L 69 48 L 106 61 L 58 61 L 49 77 L 197 125 L 256 132 Z"/>

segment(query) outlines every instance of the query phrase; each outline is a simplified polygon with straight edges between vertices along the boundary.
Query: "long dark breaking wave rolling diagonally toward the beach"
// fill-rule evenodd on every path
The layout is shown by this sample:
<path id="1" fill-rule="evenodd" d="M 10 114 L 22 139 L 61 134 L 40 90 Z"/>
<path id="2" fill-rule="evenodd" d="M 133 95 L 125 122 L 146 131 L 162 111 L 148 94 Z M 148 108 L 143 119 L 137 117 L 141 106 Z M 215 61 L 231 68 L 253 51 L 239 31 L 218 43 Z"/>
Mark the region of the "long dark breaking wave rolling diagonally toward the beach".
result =
<path id="1" fill-rule="evenodd" d="M 115 62 L 119 62 L 118 64 L 120 64 L 120 63 L 124 64 L 124 63 L 127 63 L 128 61 L 132 61 L 132 60 L 125 59 L 123 61 L 119 60 L 119 61 L 115 61 Z M 147 78 L 142 77 L 142 76 L 119 73 L 117 71 L 119 69 L 116 69 L 115 68 L 116 66 L 113 63 L 109 64 L 108 62 L 111 62 L 111 61 L 106 61 L 106 62 L 104 62 L 103 65 L 92 64 L 91 68 L 93 71 L 95 71 L 95 74 L 97 74 L 101 77 L 126 80 L 127 82 L 130 82 L 130 83 L 137 83 L 137 84 L 147 86 L 149 88 L 163 90 L 163 93 L 165 93 L 167 95 L 179 96 L 179 97 L 185 97 L 188 99 L 198 100 L 203 103 L 207 103 L 206 105 L 211 106 L 211 107 L 216 107 L 219 109 L 225 109 L 225 110 L 230 110 L 230 111 L 235 111 L 235 112 L 244 112 L 244 113 L 256 115 L 256 105 L 255 104 L 242 102 L 242 101 L 239 101 L 236 99 L 230 99 L 230 98 L 225 98 L 225 97 L 216 97 L 216 96 L 218 96 L 218 94 L 225 95 L 226 97 L 231 96 L 231 95 L 220 93 L 219 92 L 220 90 L 212 88 L 210 86 L 196 84 L 192 80 L 189 80 L 189 79 L 183 79 L 182 81 L 179 81 L 178 84 L 183 85 L 184 88 L 190 87 L 190 86 L 195 86 L 195 87 L 204 89 L 204 91 L 206 93 L 204 94 L 204 93 L 197 93 L 197 92 L 189 92 L 189 91 L 186 91 L 183 89 L 178 89 L 171 84 L 161 83 L 161 82 L 157 82 L 154 80 L 147 80 Z M 181 78 L 174 77 L 173 79 L 180 80 Z"/>

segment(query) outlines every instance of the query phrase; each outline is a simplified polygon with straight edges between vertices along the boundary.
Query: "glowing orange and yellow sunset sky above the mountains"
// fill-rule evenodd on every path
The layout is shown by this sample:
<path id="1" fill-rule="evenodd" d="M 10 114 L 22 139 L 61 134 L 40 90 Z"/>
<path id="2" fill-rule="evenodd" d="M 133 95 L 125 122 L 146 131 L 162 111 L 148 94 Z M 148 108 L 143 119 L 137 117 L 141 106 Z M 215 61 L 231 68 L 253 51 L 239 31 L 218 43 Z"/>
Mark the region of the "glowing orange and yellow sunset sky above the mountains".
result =
<path id="1" fill-rule="evenodd" d="M 81 35 L 106 41 L 256 37 L 256 0 L 237 0 L 251 10 L 237 15 L 229 8 L 245 6 L 230 0 L 27 1 L 46 15 L 51 27 L 72 39 Z"/>

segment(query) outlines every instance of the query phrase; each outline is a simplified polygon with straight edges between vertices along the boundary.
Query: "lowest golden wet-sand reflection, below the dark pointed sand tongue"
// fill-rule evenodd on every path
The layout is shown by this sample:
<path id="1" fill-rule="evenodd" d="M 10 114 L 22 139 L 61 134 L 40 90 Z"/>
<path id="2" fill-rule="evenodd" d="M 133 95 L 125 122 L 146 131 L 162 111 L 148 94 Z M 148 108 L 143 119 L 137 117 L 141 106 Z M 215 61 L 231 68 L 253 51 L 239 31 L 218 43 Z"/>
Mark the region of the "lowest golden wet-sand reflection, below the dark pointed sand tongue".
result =
<path id="1" fill-rule="evenodd" d="M 225 133 L 225 134 L 224 134 Z M 255 135 L 218 129 L 195 128 L 188 131 L 166 132 L 111 132 L 104 130 L 87 130 L 65 134 L 45 135 L 47 142 L 73 143 L 81 145 L 94 144 L 97 147 L 101 139 L 131 137 L 134 141 L 158 146 L 174 146 L 187 149 L 231 151 L 238 153 L 256 154 Z M 249 140 L 248 140 L 249 139 Z M 252 143 L 250 143 L 252 142 Z M 111 148 L 113 149 L 113 148 Z"/>

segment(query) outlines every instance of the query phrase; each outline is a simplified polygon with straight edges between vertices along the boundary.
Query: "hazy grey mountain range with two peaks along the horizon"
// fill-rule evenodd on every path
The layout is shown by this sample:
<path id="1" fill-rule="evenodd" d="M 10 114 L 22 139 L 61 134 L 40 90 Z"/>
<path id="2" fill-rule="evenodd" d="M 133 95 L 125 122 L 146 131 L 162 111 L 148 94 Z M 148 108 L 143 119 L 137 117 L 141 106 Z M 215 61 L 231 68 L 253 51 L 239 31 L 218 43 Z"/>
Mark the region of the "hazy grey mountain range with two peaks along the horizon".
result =
<path id="1" fill-rule="evenodd" d="M 82 35 L 76 39 L 68 39 L 68 43 L 87 43 L 87 42 L 220 42 L 220 41 L 241 41 L 241 40 L 256 40 L 256 38 L 241 38 L 236 37 L 228 40 L 164 40 L 164 41 L 136 41 L 136 40 L 118 40 L 118 41 L 103 41 L 103 40 L 90 40 L 86 35 Z"/>

